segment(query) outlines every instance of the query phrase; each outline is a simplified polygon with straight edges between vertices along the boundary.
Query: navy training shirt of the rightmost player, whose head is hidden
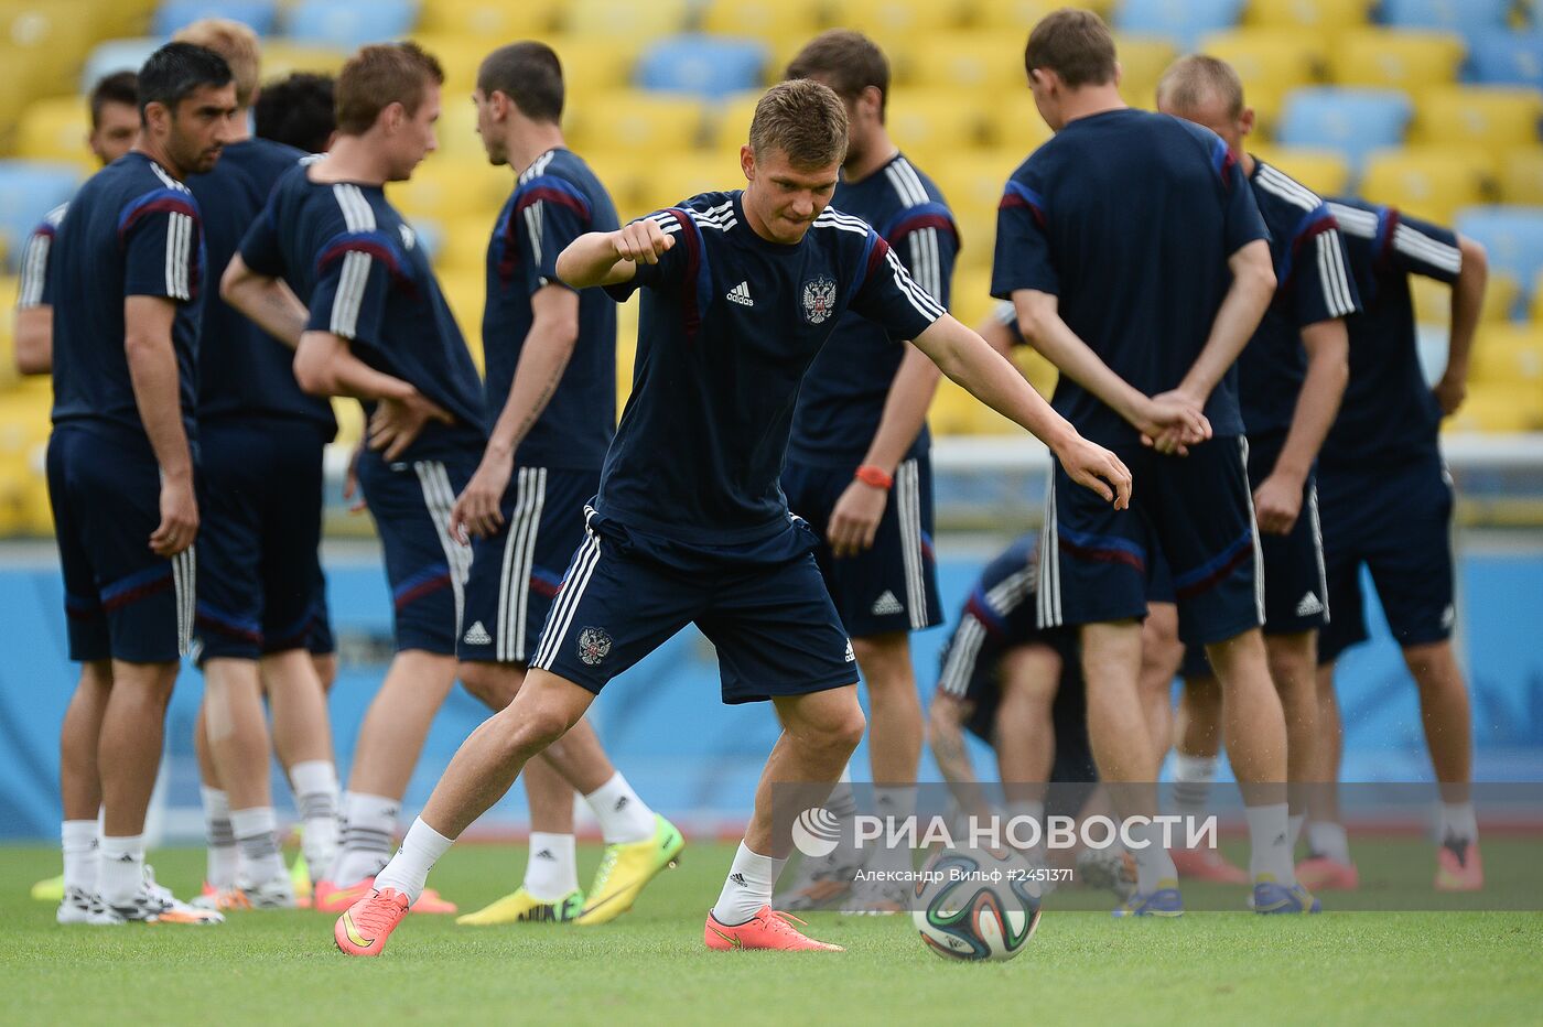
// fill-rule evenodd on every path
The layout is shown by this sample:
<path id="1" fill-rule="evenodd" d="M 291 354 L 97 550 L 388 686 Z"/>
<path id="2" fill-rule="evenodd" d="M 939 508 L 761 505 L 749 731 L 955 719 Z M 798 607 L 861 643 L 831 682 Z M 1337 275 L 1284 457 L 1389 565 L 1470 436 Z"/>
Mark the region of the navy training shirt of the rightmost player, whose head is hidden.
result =
<path id="1" fill-rule="evenodd" d="M 1350 254 L 1362 311 L 1349 318 L 1350 384 L 1322 467 L 1359 470 L 1440 455 L 1441 407 L 1420 369 L 1409 276 L 1452 284 L 1463 270 L 1457 236 L 1390 207 L 1329 202 Z"/>

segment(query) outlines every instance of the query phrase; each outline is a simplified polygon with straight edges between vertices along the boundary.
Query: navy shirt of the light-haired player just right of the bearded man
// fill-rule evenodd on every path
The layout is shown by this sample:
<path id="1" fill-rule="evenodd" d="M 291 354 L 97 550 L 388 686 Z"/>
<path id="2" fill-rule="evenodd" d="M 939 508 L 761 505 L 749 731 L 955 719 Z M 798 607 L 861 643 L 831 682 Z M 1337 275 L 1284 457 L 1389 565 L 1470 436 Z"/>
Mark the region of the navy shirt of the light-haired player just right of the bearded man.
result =
<path id="1" fill-rule="evenodd" d="M 225 273 L 241 239 L 273 191 L 275 182 L 306 153 L 268 139 L 228 143 L 208 174 L 188 177 L 204 211 L 204 244 L 214 281 Z M 218 295 L 204 304 L 198 355 L 198 416 L 299 418 L 330 439 L 338 432 L 332 404 L 307 396 L 295 381 L 295 350 L 248 321 Z"/>

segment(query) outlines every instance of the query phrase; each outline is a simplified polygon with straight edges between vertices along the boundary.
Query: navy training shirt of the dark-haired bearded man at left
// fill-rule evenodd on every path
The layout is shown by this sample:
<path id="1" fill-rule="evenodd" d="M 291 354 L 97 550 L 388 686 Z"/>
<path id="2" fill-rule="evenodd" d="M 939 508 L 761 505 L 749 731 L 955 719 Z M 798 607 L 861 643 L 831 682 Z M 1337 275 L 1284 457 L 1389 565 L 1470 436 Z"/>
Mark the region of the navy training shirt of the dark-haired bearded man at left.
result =
<path id="1" fill-rule="evenodd" d="M 143 435 L 123 352 L 123 299 L 176 302 L 182 423 L 198 438 L 199 305 L 204 231 L 182 182 L 133 150 L 80 187 L 59 225 L 43 302 L 54 308 L 54 424 L 111 424 Z"/>

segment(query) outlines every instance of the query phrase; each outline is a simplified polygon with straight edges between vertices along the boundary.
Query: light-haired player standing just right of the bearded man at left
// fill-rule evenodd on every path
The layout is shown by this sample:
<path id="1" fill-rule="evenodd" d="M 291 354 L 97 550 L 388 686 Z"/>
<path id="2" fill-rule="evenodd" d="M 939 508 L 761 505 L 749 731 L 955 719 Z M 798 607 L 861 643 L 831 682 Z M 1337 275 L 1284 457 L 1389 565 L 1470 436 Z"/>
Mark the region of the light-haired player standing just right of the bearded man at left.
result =
<path id="1" fill-rule="evenodd" d="M 247 130 L 261 63 L 250 28 L 204 19 L 176 39 L 218 52 L 235 76 L 236 128 L 219 163 L 188 179 L 204 217 L 207 259 L 224 268 L 273 184 L 306 154 Z M 265 691 L 275 742 L 289 757 L 306 860 L 312 876 L 321 876 L 336 854 L 338 774 L 307 645 L 321 580 L 321 458 L 338 426 L 326 399 L 299 390 L 293 352 L 219 296 L 204 304 L 201 338 L 198 748 L 207 757 L 201 762 L 216 771 L 204 783 L 210 839 L 228 831 L 238 857 L 231 868 L 218 859 L 231 854 L 227 847 L 211 845 L 208 882 L 221 890 L 222 908 L 287 908 L 295 890 L 278 847 L 262 697 Z"/>

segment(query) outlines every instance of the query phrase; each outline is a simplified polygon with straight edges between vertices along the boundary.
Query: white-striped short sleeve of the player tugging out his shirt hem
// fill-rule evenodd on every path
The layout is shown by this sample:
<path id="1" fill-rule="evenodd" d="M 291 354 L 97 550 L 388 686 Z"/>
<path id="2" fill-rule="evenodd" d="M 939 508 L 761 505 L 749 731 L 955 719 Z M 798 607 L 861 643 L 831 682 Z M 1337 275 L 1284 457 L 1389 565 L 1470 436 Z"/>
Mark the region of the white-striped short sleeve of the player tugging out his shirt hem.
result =
<path id="1" fill-rule="evenodd" d="M 316 285 L 306 328 L 378 345 L 393 276 L 403 276 L 403 261 L 386 233 L 335 236 L 316 258 Z"/>

